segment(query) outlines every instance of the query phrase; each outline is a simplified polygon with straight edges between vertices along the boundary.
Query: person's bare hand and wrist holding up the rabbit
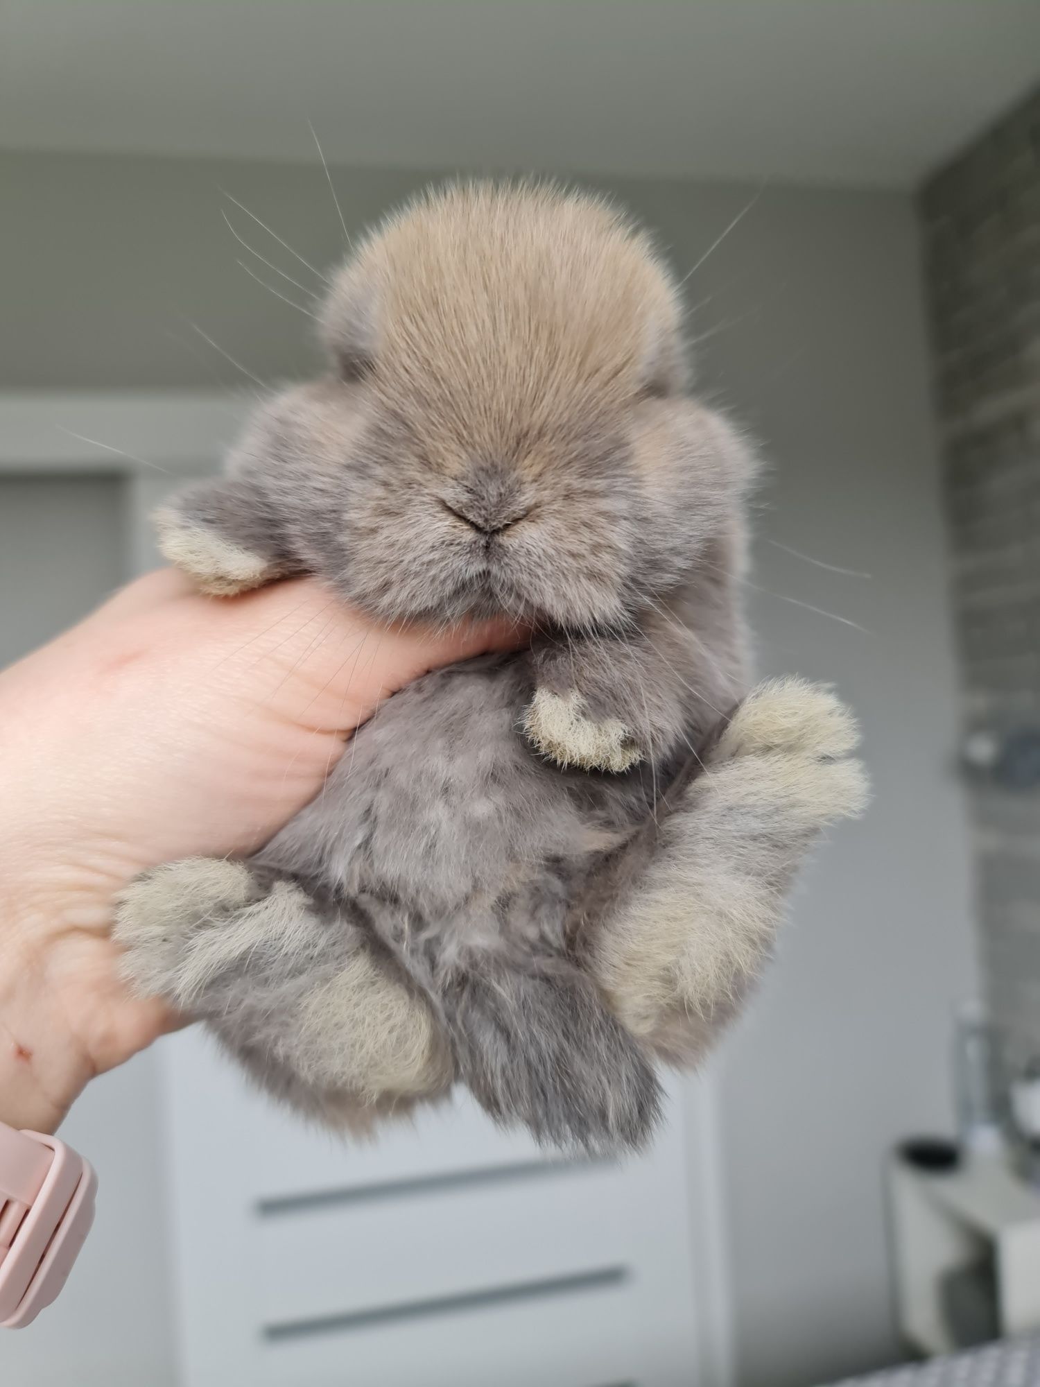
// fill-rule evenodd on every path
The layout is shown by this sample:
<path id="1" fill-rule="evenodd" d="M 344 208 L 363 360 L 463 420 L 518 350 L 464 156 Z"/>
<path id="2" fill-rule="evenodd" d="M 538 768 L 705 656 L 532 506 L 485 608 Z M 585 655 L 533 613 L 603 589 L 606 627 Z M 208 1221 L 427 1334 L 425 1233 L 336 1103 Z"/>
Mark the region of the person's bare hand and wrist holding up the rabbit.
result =
<path id="1" fill-rule="evenodd" d="M 137 872 L 254 852 L 383 699 L 521 639 L 377 627 L 311 580 L 215 601 L 161 570 L 0 673 L 0 1121 L 53 1132 L 177 1025 L 119 978 Z"/>

